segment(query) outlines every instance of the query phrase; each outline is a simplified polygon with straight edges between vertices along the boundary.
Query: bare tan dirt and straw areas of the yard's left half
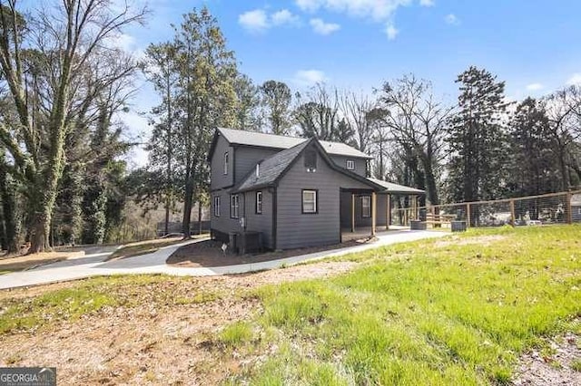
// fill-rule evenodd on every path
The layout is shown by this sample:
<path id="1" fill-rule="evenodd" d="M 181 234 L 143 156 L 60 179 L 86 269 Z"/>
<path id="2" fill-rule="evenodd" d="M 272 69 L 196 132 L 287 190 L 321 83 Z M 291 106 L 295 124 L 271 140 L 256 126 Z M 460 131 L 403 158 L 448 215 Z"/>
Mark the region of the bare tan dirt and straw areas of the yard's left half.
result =
<path id="1" fill-rule="evenodd" d="M 0 366 L 54 366 L 59 385 L 216 384 L 241 366 L 223 355 L 213 333 L 260 311 L 245 290 L 265 284 L 327 277 L 357 264 L 326 262 L 248 275 L 168 279 L 143 289 L 123 289 L 140 297 L 133 307 L 105 307 L 74 322 L 56 323 L 36 333 L 0 335 Z M 0 300 L 68 288 L 74 283 L 0 291 Z M 164 304 L 159 296 L 221 294 L 216 300 Z M 229 358 L 229 359 L 224 359 Z"/>

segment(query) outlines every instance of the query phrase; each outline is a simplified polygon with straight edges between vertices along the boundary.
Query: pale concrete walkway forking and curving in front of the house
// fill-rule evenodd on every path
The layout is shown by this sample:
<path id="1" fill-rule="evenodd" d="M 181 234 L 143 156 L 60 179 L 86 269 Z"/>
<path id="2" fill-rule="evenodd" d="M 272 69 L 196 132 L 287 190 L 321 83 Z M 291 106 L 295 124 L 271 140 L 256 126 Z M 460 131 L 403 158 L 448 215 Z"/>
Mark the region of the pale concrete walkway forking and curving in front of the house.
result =
<path id="1" fill-rule="evenodd" d="M 104 260 L 106 257 L 113 252 L 102 252 L 64 260 L 54 264 L 42 265 L 29 271 L 0 275 L 0 289 L 15 288 L 26 285 L 44 285 L 98 275 L 166 274 L 180 276 L 208 276 L 242 274 L 264 269 L 279 268 L 281 265 L 293 265 L 329 256 L 347 255 L 371 248 L 377 248 L 379 246 L 388 246 L 390 244 L 446 235 L 448 235 L 448 233 L 433 231 L 395 231 L 379 234 L 379 240 L 370 244 L 333 249 L 309 255 L 292 256 L 261 263 L 196 268 L 176 267 L 165 264 L 165 260 L 180 246 L 206 240 L 206 238 L 202 238 L 186 241 L 173 246 L 165 246 L 152 254 L 127 257 L 121 260 L 105 262 Z"/>

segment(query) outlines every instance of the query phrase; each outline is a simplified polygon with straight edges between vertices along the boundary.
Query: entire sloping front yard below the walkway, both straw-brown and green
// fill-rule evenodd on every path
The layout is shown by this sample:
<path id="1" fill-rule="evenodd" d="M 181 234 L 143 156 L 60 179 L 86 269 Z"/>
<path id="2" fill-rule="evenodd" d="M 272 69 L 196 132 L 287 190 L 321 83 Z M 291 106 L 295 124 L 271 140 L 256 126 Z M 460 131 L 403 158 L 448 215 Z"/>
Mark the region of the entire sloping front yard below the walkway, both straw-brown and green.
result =
<path id="1" fill-rule="evenodd" d="M 507 383 L 523 353 L 560 371 L 548 343 L 581 346 L 580 235 L 499 228 L 256 274 L 0 291 L 0 365 L 56 366 L 59 384 Z"/>

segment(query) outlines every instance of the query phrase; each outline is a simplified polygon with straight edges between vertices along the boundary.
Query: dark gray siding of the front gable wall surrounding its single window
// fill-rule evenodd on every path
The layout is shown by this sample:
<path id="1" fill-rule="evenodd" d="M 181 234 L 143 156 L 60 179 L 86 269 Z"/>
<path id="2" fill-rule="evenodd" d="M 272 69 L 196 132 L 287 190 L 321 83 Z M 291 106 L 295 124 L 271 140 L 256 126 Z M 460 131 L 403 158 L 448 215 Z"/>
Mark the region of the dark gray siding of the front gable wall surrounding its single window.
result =
<path id="1" fill-rule="evenodd" d="M 279 249 L 340 242 L 340 188 L 369 189 L 367 185 L 330 169 L 318 155 L 317 171 L 308 173 L 302 157 L 277 188 Z M 319 213 L 302 214 L 302 189 L 318 189 Z"/>

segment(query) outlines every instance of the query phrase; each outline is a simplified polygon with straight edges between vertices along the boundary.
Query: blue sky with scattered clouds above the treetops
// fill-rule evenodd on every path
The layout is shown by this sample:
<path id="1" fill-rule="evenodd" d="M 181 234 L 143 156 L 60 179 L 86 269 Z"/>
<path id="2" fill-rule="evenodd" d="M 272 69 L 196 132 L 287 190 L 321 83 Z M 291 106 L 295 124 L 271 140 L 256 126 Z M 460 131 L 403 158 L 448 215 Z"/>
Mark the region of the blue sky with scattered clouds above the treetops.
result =
<path id="1" fill-rule="evenodd" d="M 140 2 L 141 0 L 137 0 Z M 469 65 L 507 82 L 507 97 L 540 96 L 581 82 L 581 1 L 559 0 L 150 0 L 145 27 L 132 27 L 119 44 L 137 55 L 172 38 L 170 24 L 208 6 L 218 19 L 241 72 L 304 90 L 327 82 L 371 92 L 385 80 L 413 72 L 449 101 Z M 136 112 L 156 98 L 147 85 L 125 121 L 143 131 Z M 143 153 L 135 153 L 138 164 Z"/>

